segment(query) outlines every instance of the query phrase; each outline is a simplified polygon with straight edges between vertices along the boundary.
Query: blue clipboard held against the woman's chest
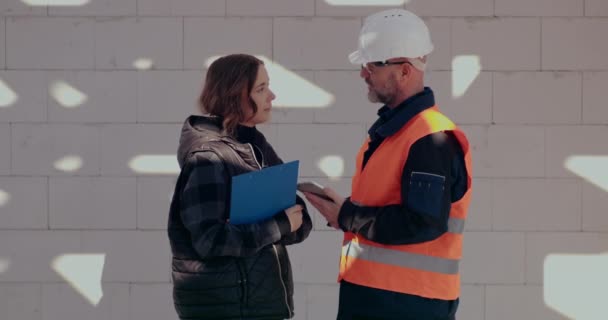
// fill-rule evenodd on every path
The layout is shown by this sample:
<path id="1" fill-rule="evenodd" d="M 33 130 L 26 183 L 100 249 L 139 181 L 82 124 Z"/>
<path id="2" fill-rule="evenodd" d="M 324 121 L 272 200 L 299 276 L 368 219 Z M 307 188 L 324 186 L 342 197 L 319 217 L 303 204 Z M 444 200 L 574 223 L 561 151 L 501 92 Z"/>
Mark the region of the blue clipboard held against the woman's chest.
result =
<path id="1" fill-rule="evenodd" d="M 232 177 L 230 223 L 266 220 L 296 204 L 299 161 Z"/>

